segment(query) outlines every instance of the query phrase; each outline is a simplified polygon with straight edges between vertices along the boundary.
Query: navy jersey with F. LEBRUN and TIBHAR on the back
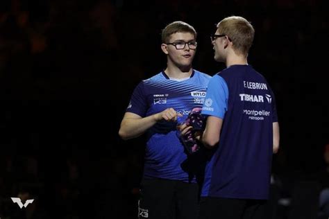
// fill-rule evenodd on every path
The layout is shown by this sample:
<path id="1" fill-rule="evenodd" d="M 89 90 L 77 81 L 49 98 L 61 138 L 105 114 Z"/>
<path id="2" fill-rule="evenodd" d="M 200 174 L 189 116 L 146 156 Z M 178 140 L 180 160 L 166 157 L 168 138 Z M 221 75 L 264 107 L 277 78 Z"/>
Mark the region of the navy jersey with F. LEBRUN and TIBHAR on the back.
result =
<path id="1" fill-rule="evenodd" d="M 209 82 L 202 114 L 223 119 L 205 169 L 203 197 L 268 199 L 276 103 L 251 65 L 233 65 Z"/>

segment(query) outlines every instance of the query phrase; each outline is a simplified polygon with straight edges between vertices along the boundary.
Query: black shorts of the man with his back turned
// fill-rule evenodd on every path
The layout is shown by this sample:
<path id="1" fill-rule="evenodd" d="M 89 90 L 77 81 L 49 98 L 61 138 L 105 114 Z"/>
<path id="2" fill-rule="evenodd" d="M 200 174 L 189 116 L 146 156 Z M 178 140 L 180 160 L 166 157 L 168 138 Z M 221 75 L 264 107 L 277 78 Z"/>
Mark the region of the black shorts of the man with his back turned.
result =
<path id="1" fill-rule="evenodd" d="M 264 219 L 267 200 L 203 197 L 199 219 Z"/>

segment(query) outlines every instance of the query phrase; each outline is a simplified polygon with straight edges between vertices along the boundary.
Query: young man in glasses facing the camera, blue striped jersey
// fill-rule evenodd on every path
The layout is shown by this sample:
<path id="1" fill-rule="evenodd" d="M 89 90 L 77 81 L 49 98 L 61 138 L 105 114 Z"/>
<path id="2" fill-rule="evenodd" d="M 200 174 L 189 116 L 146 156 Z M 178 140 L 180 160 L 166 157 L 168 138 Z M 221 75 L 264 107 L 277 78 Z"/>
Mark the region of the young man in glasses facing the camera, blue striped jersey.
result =
<path id="1" fill-rule="evenodd" d="M 194 107 L 202 107 L 210 76 L 192 69 L 196 31 L 183 21 L 162 30 L 167 67 L 133 91 L 119 135 L 146 134 L 139 218 L 196 218 L 199 186 L 183 163 L 188 159 L 177 133 Z"/>

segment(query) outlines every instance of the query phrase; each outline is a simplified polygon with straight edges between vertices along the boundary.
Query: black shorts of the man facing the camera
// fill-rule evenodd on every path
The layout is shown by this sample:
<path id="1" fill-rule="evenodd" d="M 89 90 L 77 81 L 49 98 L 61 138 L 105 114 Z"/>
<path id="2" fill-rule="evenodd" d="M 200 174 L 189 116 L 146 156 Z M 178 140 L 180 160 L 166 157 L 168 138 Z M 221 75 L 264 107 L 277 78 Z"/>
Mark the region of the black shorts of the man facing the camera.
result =
<path id="1" fill-rule="evenodd" d="M 196 219 L 199 186 L 168 179 L 142 179 L 138 218 Z"/>

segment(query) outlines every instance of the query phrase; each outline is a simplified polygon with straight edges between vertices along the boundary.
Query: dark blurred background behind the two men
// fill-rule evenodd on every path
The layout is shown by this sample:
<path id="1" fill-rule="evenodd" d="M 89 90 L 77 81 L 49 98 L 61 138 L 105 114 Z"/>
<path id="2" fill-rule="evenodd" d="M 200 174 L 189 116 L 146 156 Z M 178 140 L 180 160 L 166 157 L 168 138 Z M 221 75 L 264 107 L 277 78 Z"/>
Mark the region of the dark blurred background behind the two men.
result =
<path id="1" fill-rule="evenodd" d="M 144 139 L 117 134 L 130 94 L 165 68 L 160 33 L 171 21 L 198 32 L 194 69 L 222 70 L 210 35 L 230 15 L 255 27 L 248 62 L 276 94 L 271 218 L 315 218 L 319 184 L 329 186 L 317 175 L 329 143 L 328 6 L 0 0 L 0 218 L 136 218 Z M 35 201 L 19 209 L 11 197 Z"/>

